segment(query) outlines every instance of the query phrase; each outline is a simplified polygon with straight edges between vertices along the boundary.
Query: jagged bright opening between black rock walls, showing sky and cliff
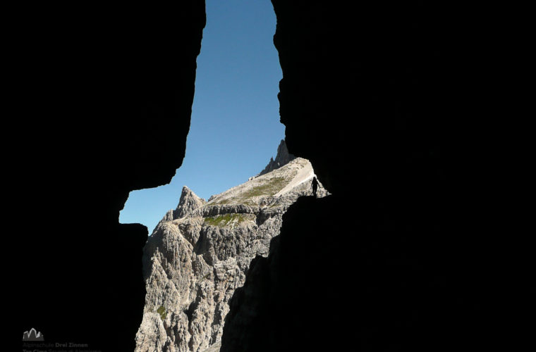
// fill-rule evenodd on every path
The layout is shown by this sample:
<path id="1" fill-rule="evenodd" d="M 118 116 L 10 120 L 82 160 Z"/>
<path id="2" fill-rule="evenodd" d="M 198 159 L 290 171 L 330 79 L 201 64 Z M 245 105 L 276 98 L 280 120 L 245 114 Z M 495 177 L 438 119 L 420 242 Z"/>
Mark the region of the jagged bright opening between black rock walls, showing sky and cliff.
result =
<path id="1" fill-rule="evenodd" d="M 136 351 L 217 346 L 233 290 L 252 258 L 267 255 L 272 229 L 281 225 L 276 212 L 296 195 L 280 196 L 282 204 L 273 200 L 295 186 L 303 194 L 310 188 L 312 168 L 303 161 L 286 171 L 288 180 L 268 176 L 292 159 L 279 122 L 282 73 L 272 3 L 207 0 L 206 16 L 183 163 L 169 184 L 131 191 L 120 213 L 121 223 L 141 223 L 149 232 Z M 203 207 L 248 182 L 253 185 L 238 198 Z M 200 206 L 205 213 L 191 215 Z M 252 243 L 241 248 L 243 241 Z M 150 334 L 155 329 L 165 330 L 166 341 Z"/>

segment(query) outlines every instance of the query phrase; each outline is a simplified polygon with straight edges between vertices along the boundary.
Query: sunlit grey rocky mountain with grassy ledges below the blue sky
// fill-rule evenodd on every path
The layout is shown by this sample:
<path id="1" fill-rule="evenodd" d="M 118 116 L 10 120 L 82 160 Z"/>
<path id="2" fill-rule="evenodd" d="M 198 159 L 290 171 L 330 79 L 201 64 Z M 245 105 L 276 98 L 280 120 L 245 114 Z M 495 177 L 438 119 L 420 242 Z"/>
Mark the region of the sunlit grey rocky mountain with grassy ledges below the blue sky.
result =
<path id="1" fill-rule="evenodd" d="M 282 216 L 310 196 L 312 165 L 284 155 L 274 168 L 209 201 L 183 187 L 175 210 L 155 227 L 144 248 L 147 287 L 135 351 L 219 351 L 229 299 L 242 287 L 252 258 L 268 256 Z M 327 195 L 319 185 L 318 197 Z"/>

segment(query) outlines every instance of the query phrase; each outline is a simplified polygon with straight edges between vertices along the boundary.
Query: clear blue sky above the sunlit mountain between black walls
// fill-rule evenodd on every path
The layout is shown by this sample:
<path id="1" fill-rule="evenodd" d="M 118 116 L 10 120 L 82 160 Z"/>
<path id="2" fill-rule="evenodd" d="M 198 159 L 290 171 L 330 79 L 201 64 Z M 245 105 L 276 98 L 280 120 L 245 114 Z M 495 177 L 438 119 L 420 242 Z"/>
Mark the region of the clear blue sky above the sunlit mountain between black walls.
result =
<path id="1" fill-rule="evenodd" d="M 281 67 L 273 44 L 269 0 L 206 0 L 207 25 L 183 165 L 169 184 L 132 191 L 119 222 L 139 222 L 152 232 L 188 186 L 208 199 L 256 175 L 274 156 L 279 122 Z"/>

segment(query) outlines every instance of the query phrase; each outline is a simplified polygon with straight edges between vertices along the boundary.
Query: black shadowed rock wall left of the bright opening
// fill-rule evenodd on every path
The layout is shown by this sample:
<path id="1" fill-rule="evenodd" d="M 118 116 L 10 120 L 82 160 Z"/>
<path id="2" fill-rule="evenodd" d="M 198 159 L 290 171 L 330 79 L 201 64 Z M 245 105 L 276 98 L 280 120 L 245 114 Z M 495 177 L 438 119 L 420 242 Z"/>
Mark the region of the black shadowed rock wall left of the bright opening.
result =
<path id="1" fill-rule="evenodd" d="M 181 166 L 205 2 L 11 15 L 23 97 L 10 149 L 20 336 L 35 327 L 51 343 L 133 351 L 147 228 L 118 214 L 129 191 L 166 184 Z"/>

